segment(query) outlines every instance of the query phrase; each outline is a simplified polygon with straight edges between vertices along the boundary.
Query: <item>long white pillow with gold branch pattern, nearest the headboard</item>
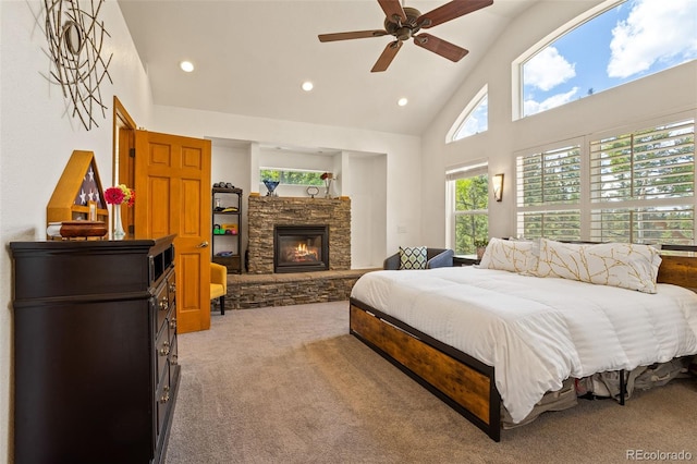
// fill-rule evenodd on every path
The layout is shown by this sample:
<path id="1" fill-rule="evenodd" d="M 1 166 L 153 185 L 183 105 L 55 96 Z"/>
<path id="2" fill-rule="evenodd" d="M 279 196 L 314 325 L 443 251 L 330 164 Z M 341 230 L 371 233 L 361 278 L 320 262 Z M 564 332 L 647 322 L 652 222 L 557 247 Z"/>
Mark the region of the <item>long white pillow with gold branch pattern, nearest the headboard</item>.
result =
<path id="1" fill-rule="evenodd" d="M 540 239 L 538 277 L 558 277 L 656 293 L 658 249 L 631 243 L 572 244 Z"/>

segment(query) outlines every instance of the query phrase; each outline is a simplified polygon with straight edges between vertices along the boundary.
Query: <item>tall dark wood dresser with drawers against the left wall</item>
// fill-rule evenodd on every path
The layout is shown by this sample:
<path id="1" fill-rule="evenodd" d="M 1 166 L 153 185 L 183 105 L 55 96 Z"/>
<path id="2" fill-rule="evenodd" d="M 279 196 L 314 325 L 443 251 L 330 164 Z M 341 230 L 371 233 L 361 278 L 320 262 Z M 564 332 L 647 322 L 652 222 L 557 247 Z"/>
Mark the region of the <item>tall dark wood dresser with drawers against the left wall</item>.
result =
<path id="1" fill-rule="evenodd" d="M 164 461 L 180 376 L 173 239 L 10 244 L 17 464 Z"/>

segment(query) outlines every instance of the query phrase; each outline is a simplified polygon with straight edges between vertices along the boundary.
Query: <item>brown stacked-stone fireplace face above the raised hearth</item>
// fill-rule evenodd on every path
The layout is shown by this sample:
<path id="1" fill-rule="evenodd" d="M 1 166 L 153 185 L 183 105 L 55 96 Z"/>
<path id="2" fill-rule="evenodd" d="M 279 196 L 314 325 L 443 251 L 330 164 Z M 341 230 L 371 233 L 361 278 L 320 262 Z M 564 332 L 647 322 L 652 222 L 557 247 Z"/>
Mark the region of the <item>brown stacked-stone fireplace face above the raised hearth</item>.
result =
<path id="1" fill-rule="evenodd" d="M 350 270 L 351 269 L 351 199 L 249 196 L 247 209 L 248 224 L 248 273 L 290 273 L 315 270 Z M 277 231 L 286 232 L 288 228 L 308 229 L 302 232 L 316 232 L 326 229 L 326 248 L 317 239 L 305 240 L 305 247 L 318 247 L 319 251 L 288 251 L 295 262 L 279 266 L 277 251 Z M 314 229 L 320 228 L 320 229 Z M 293 233 L 290 234 L 294 235 Z M 288 241 L 286 241 L 288 242 Z M 302 248 L 302 246 L 301 246 Z M 309 254 L 308 254 L 309 253 Z M 322 255 L 323 265 L 311 259 L 314 255 Z M 293 258 L 293 256 L 295 258 Z M 298 260 L 307 261 L 298 262 Z M 311 264 L 309 264 L 311 262 Z M 319 266 L 323 266 L 321 269 Z M 314 268 L 313 268 L 314 267 Z"/>

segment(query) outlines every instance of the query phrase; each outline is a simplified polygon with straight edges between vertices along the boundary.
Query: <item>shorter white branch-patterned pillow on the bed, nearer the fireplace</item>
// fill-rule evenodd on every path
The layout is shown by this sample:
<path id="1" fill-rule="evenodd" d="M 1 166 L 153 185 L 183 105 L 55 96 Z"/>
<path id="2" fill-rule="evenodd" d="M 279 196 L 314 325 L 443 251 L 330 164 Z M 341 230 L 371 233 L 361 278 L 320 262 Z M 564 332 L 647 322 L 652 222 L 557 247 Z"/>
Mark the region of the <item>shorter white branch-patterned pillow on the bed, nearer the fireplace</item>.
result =
<path id="1" fill-rule="evenodd" d="M 537 243 L 491 239 L 479 267 L 526 273 L 537 267 Z"/>

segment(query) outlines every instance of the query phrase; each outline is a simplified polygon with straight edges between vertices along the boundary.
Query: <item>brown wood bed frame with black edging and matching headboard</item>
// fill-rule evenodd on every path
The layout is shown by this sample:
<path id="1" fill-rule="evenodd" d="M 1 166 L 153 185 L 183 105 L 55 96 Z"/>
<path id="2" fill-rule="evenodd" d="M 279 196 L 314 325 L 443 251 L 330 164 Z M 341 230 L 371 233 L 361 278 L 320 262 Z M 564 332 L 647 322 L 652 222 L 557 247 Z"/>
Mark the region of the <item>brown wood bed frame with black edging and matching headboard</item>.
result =
<path id="1" fill-rule="evenodd" d="M 658 282 L 697 292 L 697 246 L 663 245 Z M 453 349 L 356 298 L 350 332 L 418 381 L 492 440 L 501 440 L 501 395 L 493 367 Z M 624 398 L 622 398 L 624 400 Z"/>

